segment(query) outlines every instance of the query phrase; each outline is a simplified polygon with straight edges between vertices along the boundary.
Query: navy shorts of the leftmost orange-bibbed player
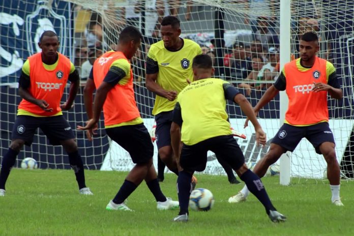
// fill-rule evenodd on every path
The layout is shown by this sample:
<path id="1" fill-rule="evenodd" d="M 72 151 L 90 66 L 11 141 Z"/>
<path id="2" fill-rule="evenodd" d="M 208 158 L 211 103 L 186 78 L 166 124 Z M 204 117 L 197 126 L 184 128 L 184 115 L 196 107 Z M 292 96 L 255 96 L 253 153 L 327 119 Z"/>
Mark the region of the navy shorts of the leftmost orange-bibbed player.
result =
<path id="1" fill-rule="evenodd" d="M 52 145 L 61 145 L 60 141 L 75 138 L 73 130 L 63 115 L 47 117 L 17 115 L 11 139 L 24 140 L 27 146 L 31 146 L 37 128 L 43 131 Z"/>

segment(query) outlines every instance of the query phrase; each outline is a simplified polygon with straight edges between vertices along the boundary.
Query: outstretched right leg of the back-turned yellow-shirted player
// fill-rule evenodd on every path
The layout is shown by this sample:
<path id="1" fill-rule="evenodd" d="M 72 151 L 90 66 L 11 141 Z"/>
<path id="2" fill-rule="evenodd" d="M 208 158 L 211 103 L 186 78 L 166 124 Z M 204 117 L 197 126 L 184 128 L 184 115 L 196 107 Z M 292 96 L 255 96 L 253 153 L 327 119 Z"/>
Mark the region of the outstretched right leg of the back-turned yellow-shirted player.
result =
<path id="1" fill-rule="evenodd" d="M 215 144 L 211 151 L 219 155 L 220 158 L 236 171 L 240 179 L 245 182 L 249 191 L 263 204 L 265 211 L 272 221 L 285 221 L 286 217 L 278 213 L 274 208 L 259 177 L 247 168 L 245 157 L 237 141 L 231 135 L 219 136 L 214 139 Z"/>

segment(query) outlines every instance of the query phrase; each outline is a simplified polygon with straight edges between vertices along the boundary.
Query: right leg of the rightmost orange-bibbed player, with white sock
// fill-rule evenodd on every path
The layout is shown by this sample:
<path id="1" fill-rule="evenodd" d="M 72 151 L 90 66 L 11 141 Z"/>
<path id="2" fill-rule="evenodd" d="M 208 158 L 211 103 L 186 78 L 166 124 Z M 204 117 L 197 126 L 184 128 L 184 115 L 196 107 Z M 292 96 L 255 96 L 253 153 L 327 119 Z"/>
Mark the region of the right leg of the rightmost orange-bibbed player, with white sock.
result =
<path id="1" fill-rule="evenodd" d="M 333 133 L 327 122 L 322 122 L 307 129 L 306 138 L 315 147 L 316 153 L 322 154 L 327 162 L 327 178 L 332 191 L 332 203 L 343 206 L 340 200 L 340 167 L 336 158 Z"/>

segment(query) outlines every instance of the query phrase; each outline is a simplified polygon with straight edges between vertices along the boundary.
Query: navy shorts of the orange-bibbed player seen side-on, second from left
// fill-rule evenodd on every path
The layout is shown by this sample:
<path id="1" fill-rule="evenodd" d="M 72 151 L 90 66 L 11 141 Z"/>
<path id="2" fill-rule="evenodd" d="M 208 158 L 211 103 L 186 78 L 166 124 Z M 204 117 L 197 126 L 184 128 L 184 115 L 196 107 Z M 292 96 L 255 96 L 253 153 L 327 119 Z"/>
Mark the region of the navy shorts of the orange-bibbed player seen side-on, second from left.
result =
<path id="1" fill-rule="evenodd" d="M 143 164 L 153 158 L 154 145 L 143 124 L 106 129 L 107 135 L 129 154 L 135 164 Z"/>

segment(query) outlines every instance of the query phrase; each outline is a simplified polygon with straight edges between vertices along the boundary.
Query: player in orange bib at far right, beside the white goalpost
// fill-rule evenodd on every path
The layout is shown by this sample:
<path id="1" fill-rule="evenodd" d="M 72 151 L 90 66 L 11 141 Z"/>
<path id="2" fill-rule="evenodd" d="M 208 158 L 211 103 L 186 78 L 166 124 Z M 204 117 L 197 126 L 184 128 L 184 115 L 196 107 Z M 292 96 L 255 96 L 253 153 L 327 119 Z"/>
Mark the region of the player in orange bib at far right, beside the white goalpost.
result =
<path id="1" fill-rule="evenodd" d="M 327 177 L 332 191 L 332 203 L 343 206 L 339 196 L 340 168 L 336 159 L 335 141 L 329 127 L 327 94 L 334 99 L 341 99 L 343 92 L 338 83 L 334 66 L 316 56 L 319 50 L 317 35 L 305 33 L 300 41 L 301 57 L 285 64 L 277 81 L 268 88 L 256 106 L 255 114 L 269 103 L 279 91 L 286 91 L 289 98 L 288 109 L 282 127 L 272 139 L 270 149 L 258 161 L 253 171 L 264 176 L 268 167 L 280 156 L 292 152 L 302 138 L 307 138 L 327 162 Z M 246 120 L 245 127 L 248 124 Z M 230 203 L 246 200 L 247 186 L 229 198 Z"/>

